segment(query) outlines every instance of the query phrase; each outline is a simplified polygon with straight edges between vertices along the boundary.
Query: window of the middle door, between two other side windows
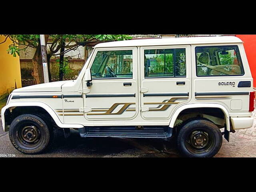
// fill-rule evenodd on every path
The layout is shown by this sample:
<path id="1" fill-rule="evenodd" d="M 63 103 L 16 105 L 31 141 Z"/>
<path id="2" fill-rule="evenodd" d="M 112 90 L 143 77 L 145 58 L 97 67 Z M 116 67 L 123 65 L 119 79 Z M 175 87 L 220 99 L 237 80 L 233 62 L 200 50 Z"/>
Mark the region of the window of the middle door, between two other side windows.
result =
<path id="1" fill-rule="evenodd" d="M 144 50 L 144 76 L 145 78 L 186 76 L 186 49 Z"/>

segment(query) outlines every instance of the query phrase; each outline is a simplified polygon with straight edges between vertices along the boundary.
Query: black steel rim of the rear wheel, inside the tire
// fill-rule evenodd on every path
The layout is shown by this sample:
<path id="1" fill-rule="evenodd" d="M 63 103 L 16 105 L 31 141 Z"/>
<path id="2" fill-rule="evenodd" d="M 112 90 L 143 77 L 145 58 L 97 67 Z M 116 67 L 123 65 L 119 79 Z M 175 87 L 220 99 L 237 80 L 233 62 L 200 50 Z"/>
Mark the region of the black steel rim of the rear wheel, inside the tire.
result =
<path id="1" fill-rule="evenodd" d="M 186 137 L 186 148 L 196 154 L 206 153 L 214 146 L 214 135 L 210 131 L 196 129 Z"/>

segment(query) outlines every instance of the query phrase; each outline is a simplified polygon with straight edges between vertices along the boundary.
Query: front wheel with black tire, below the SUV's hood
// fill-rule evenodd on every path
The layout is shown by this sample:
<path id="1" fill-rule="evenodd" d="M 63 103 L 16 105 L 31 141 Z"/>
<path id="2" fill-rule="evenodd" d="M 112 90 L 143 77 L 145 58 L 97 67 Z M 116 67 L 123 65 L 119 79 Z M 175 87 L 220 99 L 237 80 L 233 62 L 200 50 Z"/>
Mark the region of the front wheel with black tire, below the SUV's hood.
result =
<path id="1" fill-rule="evenodd" d="M 39 116 L 24 114 L 16 117 L 10 124 L 9 138 L 18 151 L 39 154 L 52 146 L 54 132 Z"/>

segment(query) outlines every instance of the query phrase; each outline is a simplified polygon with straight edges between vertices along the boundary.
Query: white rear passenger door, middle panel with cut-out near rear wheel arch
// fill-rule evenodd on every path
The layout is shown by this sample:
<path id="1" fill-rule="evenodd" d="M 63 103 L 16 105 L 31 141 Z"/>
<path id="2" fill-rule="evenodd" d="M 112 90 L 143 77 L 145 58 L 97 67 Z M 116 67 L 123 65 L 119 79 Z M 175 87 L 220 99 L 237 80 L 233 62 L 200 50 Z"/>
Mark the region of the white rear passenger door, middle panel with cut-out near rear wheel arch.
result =
<path id="1" fill-rule="evenodd" d="M 167 120 L 191 98 L 190 45 L 140 48 L 141 116 Z"/>

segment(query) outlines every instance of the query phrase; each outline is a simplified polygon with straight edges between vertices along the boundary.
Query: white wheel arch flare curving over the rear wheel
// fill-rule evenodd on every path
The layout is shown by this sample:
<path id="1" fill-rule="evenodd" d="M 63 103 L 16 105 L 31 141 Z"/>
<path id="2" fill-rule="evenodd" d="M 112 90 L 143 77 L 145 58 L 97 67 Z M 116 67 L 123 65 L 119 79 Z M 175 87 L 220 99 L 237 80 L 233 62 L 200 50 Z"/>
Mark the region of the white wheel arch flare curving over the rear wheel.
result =
<path id="1" fill-rule="evenodd" d="M 226 119 L 226 125 L 227 125 L 227 130 L 230 131 L 230 121 L 229 121 L 229 114 L 228 114 L 228 110 L 221 104 L 218 103 L 192 103 L 192 104 L 184 104 L 180 107 L 178 107 L 171 118 L 169 127 L 173 128 L 174 124 L 176 122 L 176 119 L 178 117 L 178 115 L 180 114 L 180 112 L 182 112 L 185 109 L 189 109 L 189 108 L 220 108 L 224 114 L 225 114 L 225 119 Z"/>

